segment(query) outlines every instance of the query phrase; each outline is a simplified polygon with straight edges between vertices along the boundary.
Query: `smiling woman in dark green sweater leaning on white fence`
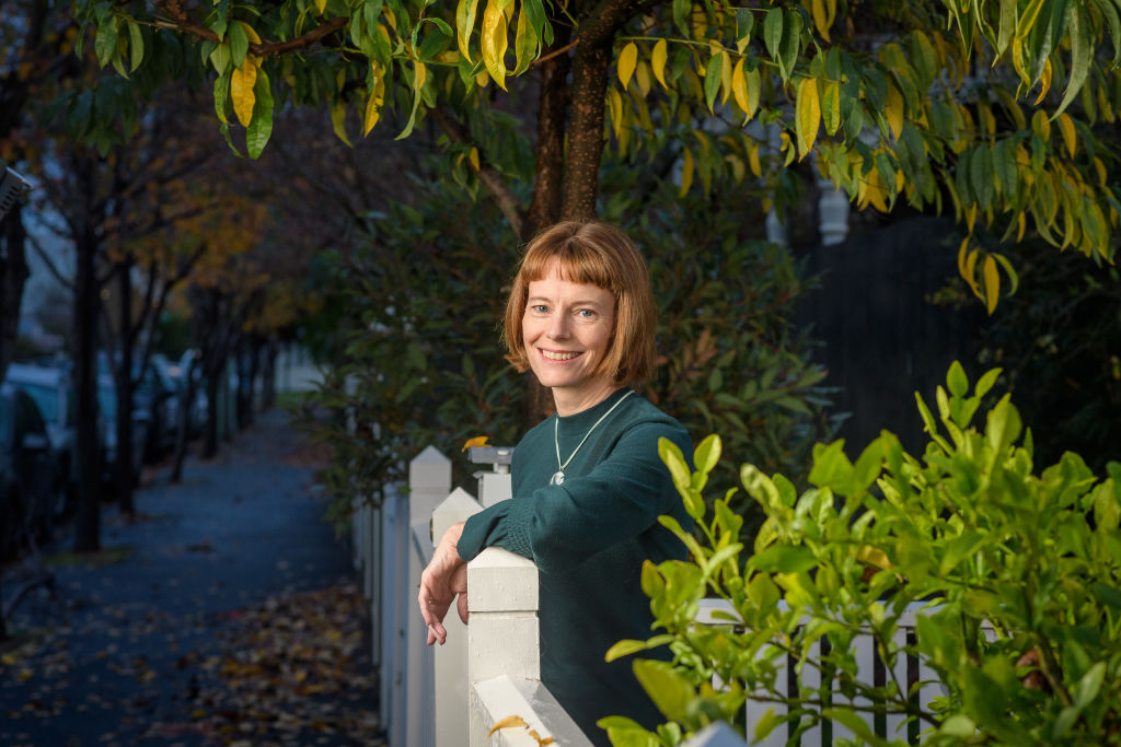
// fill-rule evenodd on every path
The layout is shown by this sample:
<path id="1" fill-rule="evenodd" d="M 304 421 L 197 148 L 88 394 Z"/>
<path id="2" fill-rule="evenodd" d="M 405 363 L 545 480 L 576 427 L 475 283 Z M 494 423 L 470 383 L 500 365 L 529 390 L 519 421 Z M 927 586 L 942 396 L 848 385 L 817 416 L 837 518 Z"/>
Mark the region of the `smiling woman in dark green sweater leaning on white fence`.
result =
<path id="1" fill-rule="evenodd" d="M 620 230 L 560 223 L 529 244 L 506 309 L 507 357 L 553 391 L 556 414 L 515 449 L 513 497 L 444 534 L 418 596 L 428 645 L 443 644 L 456 595 L 466 622 L 469 560 L 490 545 L 532 560 L 541 681 L 596 744 L 604 716 L 661 721 L 630 663 L 603 656 L 650 635 L 642 561 L 685 554 L 658 516 L 691 524 L 658 458 L 663 437 L 692 454 L 688 435 L 630 389 L 652 372 L 654 323 L 646 263 Z"/>

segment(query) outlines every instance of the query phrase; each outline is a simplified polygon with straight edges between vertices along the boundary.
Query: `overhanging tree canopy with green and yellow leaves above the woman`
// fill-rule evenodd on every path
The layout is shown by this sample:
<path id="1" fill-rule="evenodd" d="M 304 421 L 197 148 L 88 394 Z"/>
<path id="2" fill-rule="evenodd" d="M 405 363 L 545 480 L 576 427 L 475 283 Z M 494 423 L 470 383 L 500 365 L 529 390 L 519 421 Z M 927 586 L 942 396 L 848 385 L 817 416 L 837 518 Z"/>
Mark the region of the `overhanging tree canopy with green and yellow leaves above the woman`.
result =
<path id="1" fill-rule="evenodd" d="M 1001 269 L 1016 276 L 982 234 L 1030 227 L 1056 246 L 1114 253 L 1117 155 L 1103 128 L 1121 109 L 1115 0 L 76 8 L 129 90 L 209 75 L 222 132 L 251 157 L 288 102 L 328 110 L 344 140 L 387 111 L 404 122 L 400 137 L 432 118 L 456 177 L 488 189 L 522 237 L 595 213 L 606 143 L 631 157 L 669 146 L 683 192 L 725 172 L 777 195 L 785 168 L 812 155 L 859 207 L 952 211 L 969 233 L 961 272 L 990 310 Z M 95 141 L 113 137 L 111 99 L 72 102 L 71 119 Z M 513 114 L 532 105 L 530 133 Z M 530 179 L 528 196 L 511 186 Z"/>

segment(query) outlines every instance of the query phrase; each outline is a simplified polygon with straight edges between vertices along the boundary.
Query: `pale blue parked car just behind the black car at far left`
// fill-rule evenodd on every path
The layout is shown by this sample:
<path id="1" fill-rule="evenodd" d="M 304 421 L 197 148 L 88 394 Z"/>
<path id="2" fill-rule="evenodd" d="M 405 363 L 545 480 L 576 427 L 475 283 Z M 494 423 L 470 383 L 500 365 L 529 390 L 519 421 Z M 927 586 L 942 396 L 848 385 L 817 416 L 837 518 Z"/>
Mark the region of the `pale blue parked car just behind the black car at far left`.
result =
<path id="1" fill-rule="evenodd" d="M 56 517 L 62 516 L 73 507 L 77 495 L 77 411 L 71 376 L 58 366 L 12 363 L 6 381 L 27 392 L 46 421 L 62 486 L 56 491 L 54 512 Z"/>

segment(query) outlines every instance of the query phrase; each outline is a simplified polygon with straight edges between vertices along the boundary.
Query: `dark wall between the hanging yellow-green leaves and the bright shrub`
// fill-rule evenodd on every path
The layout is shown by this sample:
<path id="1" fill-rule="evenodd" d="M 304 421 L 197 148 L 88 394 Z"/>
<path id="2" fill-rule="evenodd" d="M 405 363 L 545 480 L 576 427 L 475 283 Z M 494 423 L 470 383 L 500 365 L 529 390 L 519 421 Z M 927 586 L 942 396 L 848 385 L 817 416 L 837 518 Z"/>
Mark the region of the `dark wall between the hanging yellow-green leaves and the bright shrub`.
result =
<path id="1" fill-rule="evenodd" d="M 815 358 L 828 370 L 834 412 L 847 412 L 839 437 L 855 458 L 883 429 L 911 454 L 926 438 L 915 408 L 918 391 L 937 413 L 934 389 L 954 360 L 970 381 L 982 373 L 974 360 L 980 304 L 965 309 L 928 299 L 957 276 L 954 224 L 910 218 L 810 251 L 810 273 L 821 287 L 799 308 L 800 324 L 823 342 Z"/>

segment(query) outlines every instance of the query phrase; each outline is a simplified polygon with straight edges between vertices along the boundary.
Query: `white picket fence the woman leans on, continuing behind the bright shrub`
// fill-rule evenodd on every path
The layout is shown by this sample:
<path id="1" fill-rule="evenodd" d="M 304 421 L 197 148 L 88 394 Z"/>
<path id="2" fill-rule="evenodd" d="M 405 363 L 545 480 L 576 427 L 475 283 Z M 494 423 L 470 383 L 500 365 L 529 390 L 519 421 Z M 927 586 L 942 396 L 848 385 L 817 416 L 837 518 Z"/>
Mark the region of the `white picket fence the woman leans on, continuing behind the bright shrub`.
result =
<path id="1" fill-rule="evenodd" d="M 428 447 L 409 465 L 407 492 L 390 494 L 380 508 L 359 507 L 353 517 L 354 567 L 362 572 L 363 591 L 370 601 L 372 659 L 380 672 L 380 715 L 390 747 L 538 747 L 552 737 L 555 744 L 590 745 L 572 718 L 540 683 L 537 624 L 537 569 L 525 558 L 500 548 L 489 548 L 467 564 L 471 625 L 464 626 L 453 609 L 445 626 L 444 646 L 426 645 L 427 628 L 417 607 L 420 572 L 433 553 L 433 538 L 439 538 L 456 522 L 510 497 L 508 452 L 473 449 L 473 460 L 494 459 L 491 469 L 476 473 L 479 499 L 462 488 L 451 488 L 451 463 Z M 728 624 L 714 616 L 725 607 L 722 600 L 705 600 L 700 624 Z M 914 613 L 900 625 L 899 642 L 911 635 Z M 815 644 L 821 645 L 821 644 Z M 891 676 L 877 661 L 871 636 L 858 636 L 853 645 L 860 662 L 859 679 L 882 684 Z M 815 654 L 818 652 L 815 652 Z M 926 682 L 919 701 L 927 706 L 943 694 L 933 671 L 900 657 L 893 675 L 902 687 Z M 800 678 L 784 666 L 779 681 L 788 687 L 816 690 L 821 674 L 804 667 Z M 787 690 L 789 691 L 789 690 Z M 837 704 L 843 699 L 836 695 Z M 749 701 L 747 734 L 775 706 Z M 526 726 L 508 727 L 490 734 L 508 717 L 520 717 Z M 906 739 L 901 716 L 888 716 L 879 723 L 867 722 L 889 739 Z M 879 727 L 879 728 L 877 728 Z M 766 747 L 785 745 L 786 728 L 772 731 L 759 743 Z M 840 723 L 816 727 L 802 735 L 807 747 L 827 747 L 839 738 L 853 738 Z M 726 726 L 697 735 L 689 747 L 743 745 Z"/>

